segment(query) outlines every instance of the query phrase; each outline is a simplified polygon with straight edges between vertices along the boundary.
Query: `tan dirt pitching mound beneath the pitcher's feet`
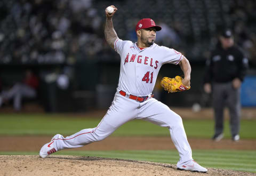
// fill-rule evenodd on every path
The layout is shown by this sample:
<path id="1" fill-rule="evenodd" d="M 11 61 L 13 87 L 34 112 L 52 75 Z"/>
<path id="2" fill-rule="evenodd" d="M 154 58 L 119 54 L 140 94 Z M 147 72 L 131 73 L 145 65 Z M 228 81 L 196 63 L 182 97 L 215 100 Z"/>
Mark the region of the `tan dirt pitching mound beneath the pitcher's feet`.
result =
<path id="1" fill-rule="evenodd" d="M 207 169 L 207 173 L 179 171 L 172 164 L 86 156 L 0 156 L 0 175 L 255 175 Z"/>

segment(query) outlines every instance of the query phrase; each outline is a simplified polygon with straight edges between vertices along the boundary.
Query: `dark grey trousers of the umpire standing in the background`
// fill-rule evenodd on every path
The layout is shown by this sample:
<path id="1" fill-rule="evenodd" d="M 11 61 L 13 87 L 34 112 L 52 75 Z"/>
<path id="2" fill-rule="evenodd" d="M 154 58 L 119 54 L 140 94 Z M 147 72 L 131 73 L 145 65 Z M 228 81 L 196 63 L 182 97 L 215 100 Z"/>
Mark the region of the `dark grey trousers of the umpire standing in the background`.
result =
<path id="1" fill-rule="evenodd" d="M 215 134 L 223 132 L 223 109 L 229 108 L 231 135 L 239 133 L 240 129 L 240 103 L 241 89 L 234 89 L 232 82 L 213 83 L 213 107 L 215 117 Z"/>

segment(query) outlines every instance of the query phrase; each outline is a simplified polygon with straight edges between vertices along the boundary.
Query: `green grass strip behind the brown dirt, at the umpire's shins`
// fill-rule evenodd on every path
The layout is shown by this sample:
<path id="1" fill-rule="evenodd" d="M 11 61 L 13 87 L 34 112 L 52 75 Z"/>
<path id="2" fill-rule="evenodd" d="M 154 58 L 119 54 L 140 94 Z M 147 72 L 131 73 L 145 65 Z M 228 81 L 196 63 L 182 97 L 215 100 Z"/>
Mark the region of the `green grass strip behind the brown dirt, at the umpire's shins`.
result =
<path id="1" fill-rule="evenodd" d="M 0 135 L 70 135 L 82 129 L 98 125 L 100 118 L 71 117 L 68 115 L 45 114 L 1 114 Z M 185 119 L 183 125 L 187 136 L 193 138 L 211 138 L 213 120 Z M 241 138 L 256 139 L 254 126 L 256 120 L 241 121 Z M 230 138 L 229 122 L 225 122 L 225 137 Z M 114 136 L 168 136 L 169 130 L 149 122 L 134 120 L 119 127 Z"/>

